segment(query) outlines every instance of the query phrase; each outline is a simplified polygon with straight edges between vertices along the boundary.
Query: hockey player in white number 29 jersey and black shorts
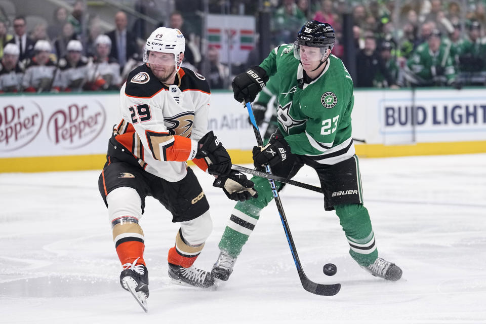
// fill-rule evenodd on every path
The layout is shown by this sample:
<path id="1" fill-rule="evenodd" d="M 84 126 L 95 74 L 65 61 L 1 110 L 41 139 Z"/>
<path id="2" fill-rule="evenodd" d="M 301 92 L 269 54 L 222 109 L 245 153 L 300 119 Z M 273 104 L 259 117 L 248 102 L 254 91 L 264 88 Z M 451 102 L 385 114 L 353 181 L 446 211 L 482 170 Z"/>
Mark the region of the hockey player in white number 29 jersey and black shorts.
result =
<path id="1" fill-rule="evenodd" d="M 160 27 L 147 39 L 146 64 L 135 68 L 120 90 L 123 119 L 113 129 L 99 178 L 116 252 L 124 270 L 120 283 L 146 310 L 148 272 L 139 225 L 145 197 L 160 201 L 180 223 L 169 250 L 169 276 L 207 288 L 210 272 L 193 266 L 212 230 L 209 204 L 187 160 L 214 175 L 213 185 L 234 200 L 257 196 L 253 182 L 231 170 L 231 159 L 208 132 L 210 89 L 204 76 L 181 68 L 185 39 Z"/>

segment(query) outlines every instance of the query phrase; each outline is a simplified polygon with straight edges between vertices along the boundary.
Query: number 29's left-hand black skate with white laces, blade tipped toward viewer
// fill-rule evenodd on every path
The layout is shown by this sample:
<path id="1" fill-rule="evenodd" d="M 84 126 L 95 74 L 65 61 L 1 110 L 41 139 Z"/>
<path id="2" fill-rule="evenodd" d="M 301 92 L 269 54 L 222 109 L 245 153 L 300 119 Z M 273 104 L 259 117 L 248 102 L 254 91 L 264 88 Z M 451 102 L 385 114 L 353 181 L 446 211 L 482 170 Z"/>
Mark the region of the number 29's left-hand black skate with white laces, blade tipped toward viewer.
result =
<path id="1" fill-rule="evenodd" d="M 145 312 L 148 311 L 148 270 L 143 264 L 135 265 L 138 259 L 133 263 L 123 265 L 124 270 L 120 274 L 120 284 L 123 289 L 132 293 L 138 304 Z"/>

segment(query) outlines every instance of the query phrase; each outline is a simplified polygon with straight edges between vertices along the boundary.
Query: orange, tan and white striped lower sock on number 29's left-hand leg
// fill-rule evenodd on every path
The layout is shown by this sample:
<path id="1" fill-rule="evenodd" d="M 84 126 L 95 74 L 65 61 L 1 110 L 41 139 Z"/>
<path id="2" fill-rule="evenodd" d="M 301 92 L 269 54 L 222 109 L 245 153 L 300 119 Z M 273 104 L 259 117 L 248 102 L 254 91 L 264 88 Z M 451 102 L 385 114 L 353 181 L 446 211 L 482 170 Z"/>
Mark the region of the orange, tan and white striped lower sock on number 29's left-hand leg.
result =
<path id="1" fill-rule="evenodd" d="M 143 231 L 135 217 L 119 217 L 111 222 L 113 242 L 121 264 L 133 263 L 145 265 Z"/>

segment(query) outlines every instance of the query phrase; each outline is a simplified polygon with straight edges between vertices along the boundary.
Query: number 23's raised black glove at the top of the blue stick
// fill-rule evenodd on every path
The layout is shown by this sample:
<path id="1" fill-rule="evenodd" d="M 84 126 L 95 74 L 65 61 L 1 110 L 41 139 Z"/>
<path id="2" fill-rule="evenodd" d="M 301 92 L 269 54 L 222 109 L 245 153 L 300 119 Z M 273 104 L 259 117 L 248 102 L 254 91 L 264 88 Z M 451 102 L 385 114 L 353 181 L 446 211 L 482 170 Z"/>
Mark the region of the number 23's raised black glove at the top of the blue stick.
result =
<path id="1" fill-rule="evenodd" d="M 236 101 L 253 102 L 268 81 L 267 72 L 259 66 L 250 66 L 245 72 L 233 79 L 233 97 Z"/>

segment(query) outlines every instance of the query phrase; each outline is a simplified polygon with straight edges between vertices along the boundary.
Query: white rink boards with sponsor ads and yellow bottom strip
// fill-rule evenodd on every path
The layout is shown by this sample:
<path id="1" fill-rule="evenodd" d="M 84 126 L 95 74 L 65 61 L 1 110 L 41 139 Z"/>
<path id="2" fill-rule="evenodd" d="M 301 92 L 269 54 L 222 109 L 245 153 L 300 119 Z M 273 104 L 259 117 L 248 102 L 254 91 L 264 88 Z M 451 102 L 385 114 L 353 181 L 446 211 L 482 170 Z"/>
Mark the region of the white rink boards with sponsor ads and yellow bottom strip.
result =
<path id="1" fill-rule="evenodd" d="M 0 172 L 102 168 L 118 102 L 118 93 L 2 95 Z M 352 118 L 361 157 L 486 152 L 484 88 L 356 90 Z M 212 94 L 209 127 L 235 164 L 251 162 L 247 120 L 231 92 Z"/>

